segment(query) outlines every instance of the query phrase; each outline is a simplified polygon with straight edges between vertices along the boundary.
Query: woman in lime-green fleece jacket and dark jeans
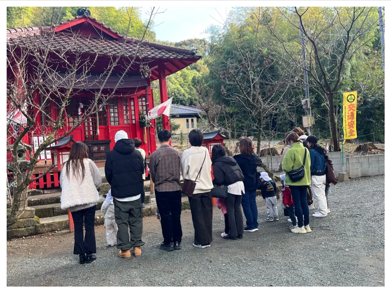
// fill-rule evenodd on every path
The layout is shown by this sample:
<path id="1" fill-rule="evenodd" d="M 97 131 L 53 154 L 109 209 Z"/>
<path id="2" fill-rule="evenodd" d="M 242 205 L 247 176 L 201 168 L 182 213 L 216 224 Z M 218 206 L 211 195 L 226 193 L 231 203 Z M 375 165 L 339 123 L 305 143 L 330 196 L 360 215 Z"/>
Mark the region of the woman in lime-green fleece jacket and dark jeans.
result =
<path id="1" fill-rule="evenodd" d="M 310 153 L 308 149 L 303 147 L 299 136 L 291 132 L 287 136 L 287 141 L 291 148 L 287 150 L 283 162 L 282 162 L 282 170 L 286 172 L 285 175 L 285 184 L 289 186 L 292 193 L 292 199 L 294 202 L 295 213 L 297 217 L 291 226 L 292 233 L 307 233 L 312 232 L 310 229 L 310 211 L 308 209 L 307 203 L 307 186 L 311 185 L 311 161 L 310 161 Z M 304 154 L 307 153 L 305 157 L 304 163 L 304 177 L 296 182 L 292 182 L 289 178 L 289 172 L 292 170 L 298 169 L 303 165 Z M 304 215 L 304 225 L 303 225 L 303 215 Z"/>

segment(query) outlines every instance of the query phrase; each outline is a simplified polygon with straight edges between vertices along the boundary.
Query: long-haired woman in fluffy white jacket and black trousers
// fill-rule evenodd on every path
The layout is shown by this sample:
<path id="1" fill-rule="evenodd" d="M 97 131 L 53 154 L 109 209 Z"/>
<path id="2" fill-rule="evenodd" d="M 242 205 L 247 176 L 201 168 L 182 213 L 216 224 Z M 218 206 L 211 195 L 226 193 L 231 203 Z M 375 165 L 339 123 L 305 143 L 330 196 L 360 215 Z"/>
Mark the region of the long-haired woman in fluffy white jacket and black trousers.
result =
<path id="1" fill-rule="evenodd" d="M 88 147 L 75 142 L 69 159 L 61 167 L 61 209 L 72 213 L 75 226 L 74 254 L 79 254 L 80 264 L 95 261 L 95 210 L 99 202 L 102 178 L 97 166 L 88 159 Z M 83 220 L 86 235 L 83 239 Z"/>

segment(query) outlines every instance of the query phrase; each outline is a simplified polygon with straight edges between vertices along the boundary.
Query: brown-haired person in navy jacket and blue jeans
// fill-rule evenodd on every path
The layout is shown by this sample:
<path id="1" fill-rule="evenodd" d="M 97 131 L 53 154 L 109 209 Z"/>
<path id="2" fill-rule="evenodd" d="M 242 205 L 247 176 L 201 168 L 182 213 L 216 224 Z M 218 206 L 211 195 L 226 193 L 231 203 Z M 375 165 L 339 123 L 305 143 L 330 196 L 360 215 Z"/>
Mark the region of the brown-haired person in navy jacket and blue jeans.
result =
<path id="1" fill-rule="evenodd" d="M 256 167 L 258 166 L 258 157 L 254 152 L 253 141 L 249 138 L 242 138 L 239 141 L 240 154 L 233 158 L 237 161 L 244 176 L 244 195 L 242 196 L 242 207 L 244 216 L 246 216 L 246 232 L 258 231 L 258 209 L 256 207 L 255 197 L 256 189 L 259 185 Z"/>

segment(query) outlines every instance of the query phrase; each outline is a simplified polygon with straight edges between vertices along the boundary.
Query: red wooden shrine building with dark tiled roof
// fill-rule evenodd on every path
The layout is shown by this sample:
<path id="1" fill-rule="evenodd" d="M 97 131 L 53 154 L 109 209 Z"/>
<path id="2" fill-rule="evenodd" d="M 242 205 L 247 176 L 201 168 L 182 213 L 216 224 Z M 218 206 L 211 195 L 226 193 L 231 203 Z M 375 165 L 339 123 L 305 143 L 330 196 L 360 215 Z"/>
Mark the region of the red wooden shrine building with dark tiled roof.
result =
<path id="1" fill-rule="evenodd" d="M 17 62 L 13 62 L 13 58 L 18 56 L 19 51 L 23 52 L 23 46 L 36 46 L 37 50 L 43 50 L 45 45 L 42 46 L 42 44 L 49 44 L 47 47 L 49 63 L 53 61 L 57 77 L 60 79 L 66 80 L 67 66 L 57 61 L 58 54 L 67 54 L 67 58 L 95 58 L 94 65 L 88 72 L 88 81 L 83 85 L 74 83 L 74 88 L 77 91 L 65 106 L 64 123 L 63 127 L 57 131 L 57 138 L 75 125 L 75 121 L 78 121 L 83 111 L 87 111 L 88 105 L 91 104 L 98 91 L 101 91 L 102 95 L 113 94 L 113 92 L 114 95 L 106 105 L 99 107 L 98 115 L 89 117 L 66 138 L 57 141 L 50 148 L 41 152 L 34 171 L 34 178 L 43 173 L 48 165 L 56 163 L 57 166 L 46 176 L 33 182 L 30 188 L 59 186 L 61 163 L 66 161 L 72 141 L 86 142 L 90 148 L 90 158 L 95 161 L 98 167 L 103 167 L 106 153 L 113 148 L 114 136 L 118 130 L 126 131 L 129 138 L 141 138 L 143 141 L 141 148 L 145 150 L 148 160 L 152 152 L 156 150 L 155 121 L 152 120 L 153 127 L 142 127 L 140 126 L 139 113 L 147 113 L 154 107 L 151 82 L 159 80 L 160 100 L 163 103 L 168 98 L 166 76 L 201 59 L 201 55 L 197 55 L 196 49 L 176 48 L 140 41 L 120 35 L 91 16 L 77 16 L 52 27 L 7 29 L 7 62 L 9 63 L 7 80 L 15 80 L 16 83 L 16 79 L 18 79 L 15 73 L 20 68 L 18 68 Z M 13 55 L 10 54 L 11 50 Z M 117 65 L 107 75 L 113 59 L 116 60 Z M 129 68 L 132 60 L 134 63 Z M 29 55 L 25 66 L 31 64 L 34 64 L 33 55 Z M 145 78 L 145 75 L 140 73 L 140 64 L 149 67 L 150 77 Z M 127 68 L 126 75 L 119 82 L 124 68 Z M 83 73 L 85 74 L 85 72 Z M 102 86 L 101 81 L 106 77 L 108 77 L 107 82 Z M 49 78 L 43 79 L 41 86 L 52 86 L 50 82 Z M 26 83 L 28 86 L 28 79 Z M 68 83 L 64 82 L 63 84 L 64 90 L 66 90 L 66 84 Z M 59 113 L 57 105 L 61 101 L 57 101 L 57 97 L 52 96 L 47 104 L 42 105 L 45 98 L 42 93 L 43 91 L 39 89 L 34 91 L 32 98 L 34 104 L 42 106 L 42 111 L 56 120 Z M 9 99 L 7 97 L 7 109 L 8 107 Z M 45 119 L 45 115 L 37 113 L 37 108 L 39 107 L 28 109 L 29 115 L 36 116 L 36 123 L 22 140 L 33 146 L 34 150 L 39 147 L 45 139 L 45 135 L 51 130 L 49 121 Z M 169 118 L 163 115 L 162 120 L 163 128 L 170 129 Z M 22 129 L 22 127 L 23 125 L 20 125 L 16 128 Z M 7 145 L 13 143 L 8 134 L 7 140 Z M 57 145 L 58 147 L 56 147 Z M 7 161 L 12 161 L 11 152 L 7 152 Z"/>

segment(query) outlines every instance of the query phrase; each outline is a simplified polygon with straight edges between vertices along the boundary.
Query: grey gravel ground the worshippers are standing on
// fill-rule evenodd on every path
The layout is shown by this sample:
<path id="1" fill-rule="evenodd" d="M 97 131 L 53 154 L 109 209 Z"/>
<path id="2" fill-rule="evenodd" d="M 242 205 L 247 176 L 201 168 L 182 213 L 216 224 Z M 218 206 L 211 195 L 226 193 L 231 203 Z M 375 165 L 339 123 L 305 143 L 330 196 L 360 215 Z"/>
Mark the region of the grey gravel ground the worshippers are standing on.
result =
<path id="1" fill-rule="evenodd" d="M 279 205 L 280 207 L 280 202 Z M 144 219 L 142 257 L 120 259 L 104 248 L 96 227 L 97 261 L 79 265 L 73 233 L 40 235 L 7 243 L 7 286 L 384 286 L 384 176 L 338 183 L 331 213 L 311 216 L 312 233 L 293 234 L 287 217 L 265 222 L 258 198 L 259 231 L 224 240 L 221 213 L 213 212 L 212 247 L 191 246 L 190 211 L 182 213 L 183 248 L 158 249 L 158 220 Z"/>

